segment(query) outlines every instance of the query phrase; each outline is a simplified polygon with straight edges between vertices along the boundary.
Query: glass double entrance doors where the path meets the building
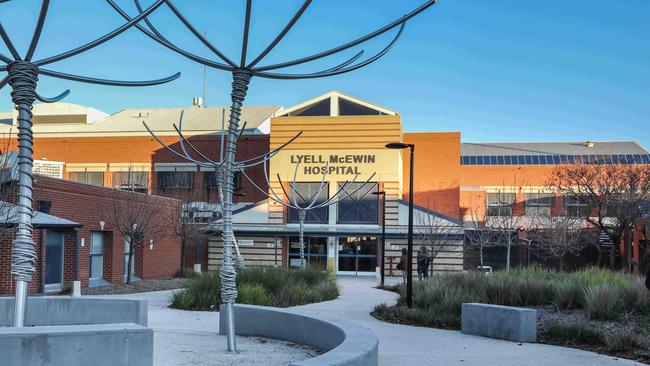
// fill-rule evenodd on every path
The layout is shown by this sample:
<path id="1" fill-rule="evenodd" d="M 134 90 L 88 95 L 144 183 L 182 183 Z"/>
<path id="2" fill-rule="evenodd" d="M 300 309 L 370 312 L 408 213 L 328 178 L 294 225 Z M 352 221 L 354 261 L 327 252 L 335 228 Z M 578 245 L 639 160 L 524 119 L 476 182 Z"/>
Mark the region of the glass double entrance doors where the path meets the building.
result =
<path id="1" fill-rule="evenodd" d="M 338 243 L 338 272 L 343 274 L 375 273 L 377 238 L 345 237 Z"/>

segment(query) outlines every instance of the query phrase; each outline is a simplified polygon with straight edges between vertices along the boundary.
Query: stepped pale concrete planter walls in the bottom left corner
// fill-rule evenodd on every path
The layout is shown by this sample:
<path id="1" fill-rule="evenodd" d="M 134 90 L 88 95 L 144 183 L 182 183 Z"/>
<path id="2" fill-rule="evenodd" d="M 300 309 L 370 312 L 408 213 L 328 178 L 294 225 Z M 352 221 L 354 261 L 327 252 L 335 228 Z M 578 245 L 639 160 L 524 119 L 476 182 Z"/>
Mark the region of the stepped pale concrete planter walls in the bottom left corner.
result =
<path id="1" fill-rule="evenodd" d="M 0 326 L 13 322 L 0 298 Z M 3 366 L 151 366 L 153 331 L 145 300 L 32 297 L 24 328 L 0 328 Z"/>

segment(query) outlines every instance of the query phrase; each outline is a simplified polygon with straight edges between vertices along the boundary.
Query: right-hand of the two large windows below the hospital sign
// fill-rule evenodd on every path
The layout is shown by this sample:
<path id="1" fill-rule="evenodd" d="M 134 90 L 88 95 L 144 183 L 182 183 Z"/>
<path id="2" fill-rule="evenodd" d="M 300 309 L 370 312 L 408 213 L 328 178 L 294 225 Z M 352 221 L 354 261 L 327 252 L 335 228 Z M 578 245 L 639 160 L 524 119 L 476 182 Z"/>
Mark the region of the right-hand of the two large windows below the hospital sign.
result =
<path id="1" fill-rule="evenodd" d="M 376 224 L 378 222 L 379 200 L 372 192 L 378 191 L 377 183 L 339 184 L 341 201 L 338 203 L 339 224 Z"/>

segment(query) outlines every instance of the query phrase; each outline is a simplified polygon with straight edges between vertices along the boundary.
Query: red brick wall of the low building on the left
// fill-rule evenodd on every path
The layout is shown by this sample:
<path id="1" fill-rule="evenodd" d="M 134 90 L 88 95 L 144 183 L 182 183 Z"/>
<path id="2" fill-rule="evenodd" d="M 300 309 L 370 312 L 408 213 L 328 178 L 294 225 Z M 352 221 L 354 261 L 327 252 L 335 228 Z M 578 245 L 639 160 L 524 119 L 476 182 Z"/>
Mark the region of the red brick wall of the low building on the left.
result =
<path id="1" fill-rule="evenodd" d="M 79 278 L 81 286 L 88 286 L 90 270 L 90 237 L 91 232 L 101 231 L 104 233 L 104 279 L 110 283 L 123 282 L 124 273 L 124 238 L 113 227 L 111 223 L 110 207 L 115 202 L 124 204 L 127 198 L 133 199 L 133 194 L 126 195 L 118 193 L 116 198 L 115 191 L 108 188 L 96 187 L 86 184 L 75 183 L 66 180 L 53 179 L 48 177 L 37 176 L 34 182 L 34 202 L 38 205 L 40 201 L 50 201 L 50 214 L 77 222 L 83 227 L 77 229 L 79 242 L 83 246 L 79 248 Z M 145 245 L 137 248 L 135 251 L 135 275 L 142 279 L 171 277 L 180 268 L 181 247 L 180 239 L 176 236 L 172 223 L 172 215 L 179 212 L 179 201 L 149 196 L 147 204 L 155 205 L 156 208 L 163 211 L 165 216 L 170 217 L 169 230 L 157 235 L 153 242 L 153 249 L 150 249 L 150 238 L 145 237 Z M 102 224 L 104 226 L 102 228 Z M 36 253 L 39 261 L 46 262 L 44 255 L 41 255 L 40 243 L 41 232 L 47 230 L 34 230 L 34 241 L 37 245 Z M 65 231 L 64 240 L 64 283 L 70 284 L 74 280 L 74 248 L 75 238 L 74 230 Z M 44 235 L 43 241 L 46 242 L 47 234 Z M 45 252 L 45 251 L 43 251 Z M 38 273 L 40 262 L 37 262 L 37 274 L 34 276 L 30 290 L 35 292 L 39 290 L 41 276 Z M 9 294 L 14 290 L 14 284 L 11 280 L 11 238 L 0 242 L 0 294 Z M 43 273 L 45 266 L 42 267 Z"/>

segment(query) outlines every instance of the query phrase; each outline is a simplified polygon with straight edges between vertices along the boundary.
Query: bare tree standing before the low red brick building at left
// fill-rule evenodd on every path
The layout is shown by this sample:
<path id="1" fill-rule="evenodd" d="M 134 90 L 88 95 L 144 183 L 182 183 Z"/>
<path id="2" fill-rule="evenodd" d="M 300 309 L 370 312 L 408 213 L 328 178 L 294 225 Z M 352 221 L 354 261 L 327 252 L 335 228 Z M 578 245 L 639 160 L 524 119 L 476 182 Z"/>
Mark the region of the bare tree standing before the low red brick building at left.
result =
<path id="1" fill-rule="evenodd" d="M 160 197 L 139 193 L 146 182 L 131 169 L 124 172 L 120 186 L 113 191 L 108 216 L 115 229 L 128 244 L 126 283 L 131 283 L 135 251 L 145 245 L 145 239 L 157 240 L 169 233 L 171 222 L 164 216 L 164 201 Z"/>

